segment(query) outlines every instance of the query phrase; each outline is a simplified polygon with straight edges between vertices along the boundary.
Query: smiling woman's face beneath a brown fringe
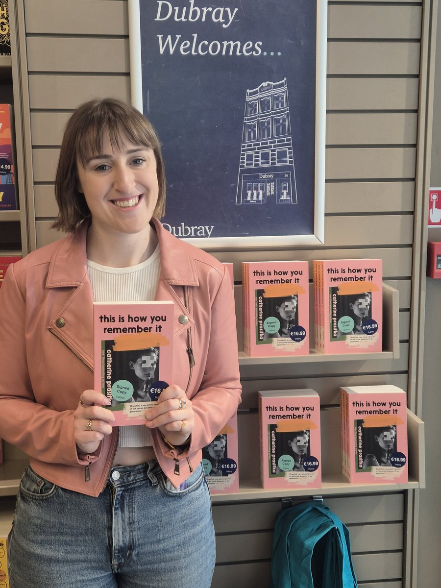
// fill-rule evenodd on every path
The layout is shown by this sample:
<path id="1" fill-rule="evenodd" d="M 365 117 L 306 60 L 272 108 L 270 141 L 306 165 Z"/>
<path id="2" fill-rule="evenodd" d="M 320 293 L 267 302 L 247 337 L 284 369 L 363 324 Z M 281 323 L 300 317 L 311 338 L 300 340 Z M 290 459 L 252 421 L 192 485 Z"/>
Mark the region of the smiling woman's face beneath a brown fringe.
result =
<path id="1" fill-rule="evenodd" d="M 129 141 L 113 149 L 105 138 L 101 153 L 83 167 L 77 162 L 79 191 L 92 215 L 92 230 L 105 236 L 150 234 L 159 186 L 153 150 Z"/>

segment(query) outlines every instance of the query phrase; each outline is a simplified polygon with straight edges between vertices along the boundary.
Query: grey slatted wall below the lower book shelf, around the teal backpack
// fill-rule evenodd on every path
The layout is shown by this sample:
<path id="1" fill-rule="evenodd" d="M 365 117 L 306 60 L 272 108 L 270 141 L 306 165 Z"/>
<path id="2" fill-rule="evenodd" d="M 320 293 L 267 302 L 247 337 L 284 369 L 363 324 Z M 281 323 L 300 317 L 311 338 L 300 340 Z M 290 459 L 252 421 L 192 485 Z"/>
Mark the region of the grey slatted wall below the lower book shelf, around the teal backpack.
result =
<path id="1" fill-rule="evenodd" d="M 403 494 L 346 496 L 344 504 L 341 498 L 325 497 L 323 503 L 348 526 L 360 585 L 400 586 Z M 252 586 L 251 568 L 262 574 L 255 585 L 269 588 L 273 529 L 281 508 L 280 500 L 213 505 L 217 558 L 212 588 Z M 373 560 L 377 564 L 372 565 Z M 389 584 L 390 580 L 395 584 Z"/>

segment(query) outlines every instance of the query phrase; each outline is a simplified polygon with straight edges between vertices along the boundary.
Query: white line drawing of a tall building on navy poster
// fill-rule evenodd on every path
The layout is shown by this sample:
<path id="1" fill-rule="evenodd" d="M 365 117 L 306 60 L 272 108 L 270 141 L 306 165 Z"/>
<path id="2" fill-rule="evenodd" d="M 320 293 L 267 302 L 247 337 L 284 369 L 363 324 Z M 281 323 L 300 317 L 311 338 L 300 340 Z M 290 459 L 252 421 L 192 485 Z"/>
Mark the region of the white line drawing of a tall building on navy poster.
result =
<path id="1" fill-rule="evenodd" d="M 297 204 L 288 85 L 247 89 L 236 204 Z"/>

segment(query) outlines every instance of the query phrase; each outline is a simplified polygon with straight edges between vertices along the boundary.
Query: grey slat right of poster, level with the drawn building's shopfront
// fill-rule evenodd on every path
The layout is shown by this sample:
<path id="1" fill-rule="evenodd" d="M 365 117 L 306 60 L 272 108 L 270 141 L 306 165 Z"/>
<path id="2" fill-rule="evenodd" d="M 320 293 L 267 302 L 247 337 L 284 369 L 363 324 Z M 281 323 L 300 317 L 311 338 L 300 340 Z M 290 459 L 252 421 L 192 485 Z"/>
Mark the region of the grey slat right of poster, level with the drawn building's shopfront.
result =
<path id="1" fill-rule="evenodd" d="M 412 212 L 415 182 L 328 182 L 325 212 Z"/>

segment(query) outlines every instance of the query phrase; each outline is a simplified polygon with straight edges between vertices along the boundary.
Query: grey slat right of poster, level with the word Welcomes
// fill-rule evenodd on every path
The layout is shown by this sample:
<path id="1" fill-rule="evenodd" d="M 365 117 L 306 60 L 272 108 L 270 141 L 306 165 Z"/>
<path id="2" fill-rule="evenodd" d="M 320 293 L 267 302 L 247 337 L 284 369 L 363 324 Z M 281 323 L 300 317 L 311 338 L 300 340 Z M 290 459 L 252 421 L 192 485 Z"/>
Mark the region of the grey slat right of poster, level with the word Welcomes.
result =
<path id="1" fill-rule="evenodd" d="M 328 43 L 330 75 L 417 75 L 417 42 L 332 41 Z"/>

